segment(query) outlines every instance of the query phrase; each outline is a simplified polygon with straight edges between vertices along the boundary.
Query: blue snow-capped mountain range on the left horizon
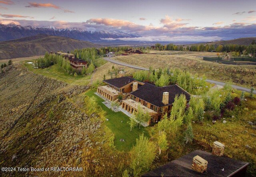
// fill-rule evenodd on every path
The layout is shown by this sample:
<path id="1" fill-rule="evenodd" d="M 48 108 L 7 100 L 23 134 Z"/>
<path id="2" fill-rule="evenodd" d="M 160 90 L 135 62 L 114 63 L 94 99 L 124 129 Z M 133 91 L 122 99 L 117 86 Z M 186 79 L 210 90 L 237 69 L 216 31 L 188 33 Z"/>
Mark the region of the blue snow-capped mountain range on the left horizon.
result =
<path id="1" fill-rule="evenodd" d="M 133 33 L 124 33 L 121 31 L 86 31 L 79 28 L 55 28 L 54 26 L 33 27 L 20 26 L 16 24 L 0 24 L 0 41 L 13 40 L 24 38 L 28 36 L 35 36 L 38 34 L 45 34 L 51 36 L 60 36 L 66 38 L 73 38 L 77 40 L 90 42 L 107 42 L 103 38 L 134 38 L 140 37 Z"/>

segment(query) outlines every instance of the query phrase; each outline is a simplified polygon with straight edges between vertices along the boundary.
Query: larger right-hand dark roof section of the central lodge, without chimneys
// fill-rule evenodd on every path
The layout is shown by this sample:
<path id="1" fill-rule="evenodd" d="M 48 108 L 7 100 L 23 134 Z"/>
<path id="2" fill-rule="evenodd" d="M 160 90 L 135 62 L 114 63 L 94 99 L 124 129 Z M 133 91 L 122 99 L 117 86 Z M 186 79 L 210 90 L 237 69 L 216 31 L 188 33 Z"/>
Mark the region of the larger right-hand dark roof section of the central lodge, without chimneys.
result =
<path id="1" fill-rule="evenodd" d="M 157 107 L 163 107 L 165 106 L 164 103 L 162 103 L 164 92 L 169 93 L 169 103 L 167 105 L 171 105 L 174 102 L 176 95 L 180 96 L 181 94 L 184 94 L 186 99 L 190 100 L 190 94 L 177 85 L 157 87 L 147 83 L 140 86 L 137 90 L 132 91 L 130 94 Z"/>

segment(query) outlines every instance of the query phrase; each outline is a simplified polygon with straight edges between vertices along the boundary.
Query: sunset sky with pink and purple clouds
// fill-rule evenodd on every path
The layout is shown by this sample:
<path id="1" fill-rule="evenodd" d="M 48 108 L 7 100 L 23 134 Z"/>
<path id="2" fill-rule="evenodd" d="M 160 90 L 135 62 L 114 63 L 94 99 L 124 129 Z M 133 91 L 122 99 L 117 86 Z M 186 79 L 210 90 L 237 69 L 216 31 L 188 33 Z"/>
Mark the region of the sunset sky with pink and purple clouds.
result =
<path id="1" fill-rule="evenodd" d="M 0 0 L 0 23 L 214 41 L 256 36 L 256 0 Z M 108 39 L 112 40 L 112 39 Z"/>

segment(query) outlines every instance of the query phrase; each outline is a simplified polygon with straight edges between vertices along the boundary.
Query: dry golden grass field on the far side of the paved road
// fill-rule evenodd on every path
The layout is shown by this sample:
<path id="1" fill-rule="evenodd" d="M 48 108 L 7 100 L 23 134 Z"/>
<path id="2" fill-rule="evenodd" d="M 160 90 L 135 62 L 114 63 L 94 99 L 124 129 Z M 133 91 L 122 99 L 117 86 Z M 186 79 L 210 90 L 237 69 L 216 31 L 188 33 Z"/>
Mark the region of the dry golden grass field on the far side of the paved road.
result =
<path id="1" fill-rule="evenodd" d="M 184 71 L 205 75 L 208 79 L 231 82 L 236 85 L 256 86 L 256 66 L 224 65 L 203 61 L 203 56 L 209 56 L 211 52 L 174 52 L 172 55 L 130 55 L 112 58 L 120 62 L 149 68 L 179 68 Z"/>

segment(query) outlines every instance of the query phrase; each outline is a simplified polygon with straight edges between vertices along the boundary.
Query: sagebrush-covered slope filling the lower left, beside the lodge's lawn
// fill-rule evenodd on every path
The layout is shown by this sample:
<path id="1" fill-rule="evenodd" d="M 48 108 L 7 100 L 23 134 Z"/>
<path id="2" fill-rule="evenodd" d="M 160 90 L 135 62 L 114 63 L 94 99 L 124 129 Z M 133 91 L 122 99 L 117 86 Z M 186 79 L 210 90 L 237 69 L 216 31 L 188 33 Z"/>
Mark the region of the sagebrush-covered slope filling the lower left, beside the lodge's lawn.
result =
<path id="1" fill-rule="evenodd" d="M 70 172 L 71 176 L 121 173 L 122 168 L 112 162 L 121 163 L 124 155 L 106 148 L 110 135 L 101 127 L 102 120 L 80 109 L 83 96 L 78 96 L 77 104 L 72 101 L 86 89 L 33 74 L 22 65 L 4 68 L 0 75 L 1 167 L 83 168 Z M 0 171 L 0 176 L 64 174 Z"/>

